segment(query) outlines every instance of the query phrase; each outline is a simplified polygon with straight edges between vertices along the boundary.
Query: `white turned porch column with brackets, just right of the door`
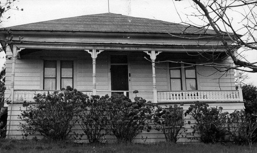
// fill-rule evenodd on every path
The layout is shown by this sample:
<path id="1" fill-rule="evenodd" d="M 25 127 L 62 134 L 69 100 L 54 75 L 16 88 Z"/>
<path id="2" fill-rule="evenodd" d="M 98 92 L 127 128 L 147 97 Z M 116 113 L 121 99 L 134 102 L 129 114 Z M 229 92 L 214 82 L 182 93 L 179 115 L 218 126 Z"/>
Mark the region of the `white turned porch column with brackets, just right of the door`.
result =
<path id="1" fill-rule="evenodd" d="M 144 51 L 146 54 L 150 55 L 150 58 L 152 60 L 152 69 L 153 69 L 153 103 L 157 103 L 157 89 L 156 89 L 156 75 L 155 75 L 155 59 L 156 56 L 159 55 L 161 52 L 155 52 L 155 51 Z"/>

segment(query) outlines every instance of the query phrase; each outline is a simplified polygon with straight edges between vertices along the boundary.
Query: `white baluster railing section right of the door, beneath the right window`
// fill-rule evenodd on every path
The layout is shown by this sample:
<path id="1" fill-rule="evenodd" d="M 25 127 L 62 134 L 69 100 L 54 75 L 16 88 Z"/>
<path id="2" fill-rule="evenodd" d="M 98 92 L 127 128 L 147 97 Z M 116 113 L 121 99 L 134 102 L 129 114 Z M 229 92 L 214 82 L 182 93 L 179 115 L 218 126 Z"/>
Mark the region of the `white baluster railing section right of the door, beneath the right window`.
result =
<path id="1" fill-rule="evenodd" d="M 175 101 L 240 101 L 238 91 L 176 91 L 158 92 L 158 102 Z"/>

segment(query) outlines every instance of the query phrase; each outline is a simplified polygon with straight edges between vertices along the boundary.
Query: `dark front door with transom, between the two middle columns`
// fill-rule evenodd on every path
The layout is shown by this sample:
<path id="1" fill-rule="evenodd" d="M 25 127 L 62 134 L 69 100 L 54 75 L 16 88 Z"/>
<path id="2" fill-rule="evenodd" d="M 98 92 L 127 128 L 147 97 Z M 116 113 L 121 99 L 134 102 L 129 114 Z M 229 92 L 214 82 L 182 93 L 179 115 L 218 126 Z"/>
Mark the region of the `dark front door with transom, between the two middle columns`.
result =
<path id="1" fill-rule="evenodd" d="M 126 55 L 111 55 L 111 86 L 112 91 L 128 91 Z M 113 93 L 123 94 L 123 92 Z M 128 93 L 125 96 L 128 96 Z"/>

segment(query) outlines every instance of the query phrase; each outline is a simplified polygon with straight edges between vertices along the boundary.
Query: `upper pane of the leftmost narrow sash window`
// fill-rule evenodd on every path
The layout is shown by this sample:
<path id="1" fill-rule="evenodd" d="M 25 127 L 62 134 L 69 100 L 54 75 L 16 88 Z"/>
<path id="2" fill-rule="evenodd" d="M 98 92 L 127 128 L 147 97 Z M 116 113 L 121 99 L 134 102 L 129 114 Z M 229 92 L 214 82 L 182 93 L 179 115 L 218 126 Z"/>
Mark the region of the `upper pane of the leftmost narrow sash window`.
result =
<path id="1" fill-rule="evenodd" d="M 44 61 L 45 78 L 56 77 L 56 61 L 46 60 Z"/>

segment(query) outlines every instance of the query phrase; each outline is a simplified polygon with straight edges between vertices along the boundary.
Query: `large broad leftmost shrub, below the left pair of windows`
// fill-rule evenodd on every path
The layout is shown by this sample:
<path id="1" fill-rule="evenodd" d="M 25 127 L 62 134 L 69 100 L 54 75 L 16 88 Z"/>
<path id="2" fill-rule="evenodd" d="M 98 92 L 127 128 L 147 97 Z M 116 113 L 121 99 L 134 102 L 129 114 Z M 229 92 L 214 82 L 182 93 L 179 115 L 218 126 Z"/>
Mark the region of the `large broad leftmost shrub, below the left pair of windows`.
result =
<path id="1" fill-rule="evenodd" d="M 26 110 L 19 118 L 25 136 L 40 133 L 49 140 L 65 140 L 74 127 L 72 119 L 77 113 L 79 102 L 86 101 L 87 95 L 73 91 L 38 94 L 34 104 L 25 102 Z"/>

